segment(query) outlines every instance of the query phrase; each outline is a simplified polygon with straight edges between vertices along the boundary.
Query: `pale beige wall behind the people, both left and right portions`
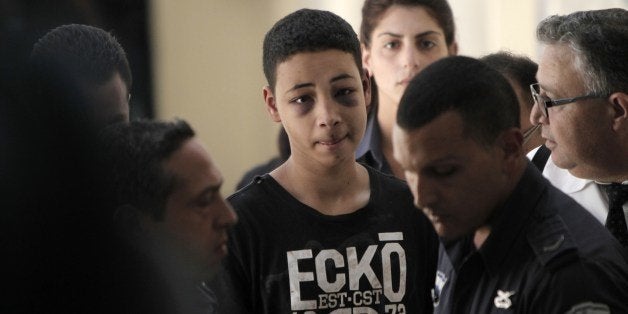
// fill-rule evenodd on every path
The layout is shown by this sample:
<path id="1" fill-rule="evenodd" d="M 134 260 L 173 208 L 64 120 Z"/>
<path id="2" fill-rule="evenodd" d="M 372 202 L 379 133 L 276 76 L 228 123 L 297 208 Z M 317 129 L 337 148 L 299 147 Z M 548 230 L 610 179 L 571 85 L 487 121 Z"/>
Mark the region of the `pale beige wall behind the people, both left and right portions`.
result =
<path id="1" fill-rule="evenodd" d="M 460 53 L 500 49 L 536 59 L 534 29 L 550 14 L 627 7 L 628 0 L 449 0 Z M 152 0 L 158 118 L 188 120 L 233 192 L 241 175 L 275 155 L 277 125 L 262 101 L 263 36 L 299 8 L 333 11 L 356 29 L 362 0 Z"/>

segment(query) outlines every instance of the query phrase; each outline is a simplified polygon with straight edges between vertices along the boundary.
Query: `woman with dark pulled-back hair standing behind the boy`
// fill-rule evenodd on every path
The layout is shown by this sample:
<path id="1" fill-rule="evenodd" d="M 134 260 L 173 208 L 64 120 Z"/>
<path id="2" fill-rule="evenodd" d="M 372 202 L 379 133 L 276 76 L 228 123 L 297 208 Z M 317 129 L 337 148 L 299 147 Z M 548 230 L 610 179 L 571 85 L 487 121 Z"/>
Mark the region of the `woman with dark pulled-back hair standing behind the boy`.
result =
<path id="1" fill-rule="evenodd" d="M 356 157 L 403 179 L 391 135 L 399 100 L 417 73 L 457 54 L 453 14 L 446 0 L 366 0 L 360 41 L 363 65 L 377 88 Z"/>

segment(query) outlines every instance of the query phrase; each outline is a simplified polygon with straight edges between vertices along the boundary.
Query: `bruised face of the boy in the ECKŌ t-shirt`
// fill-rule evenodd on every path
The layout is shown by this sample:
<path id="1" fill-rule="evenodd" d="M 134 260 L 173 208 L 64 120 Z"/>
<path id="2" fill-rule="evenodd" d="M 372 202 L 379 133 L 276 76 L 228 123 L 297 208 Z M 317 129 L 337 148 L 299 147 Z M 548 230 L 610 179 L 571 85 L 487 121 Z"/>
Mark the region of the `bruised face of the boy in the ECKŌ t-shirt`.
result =
<path id="1" fill-rule="evenodd" d="M 355 159 L 366 128 L 368 79 L 341 50 L 302 52 L 280 63 L 266 108 L 290 139 L 291 156 L 325 166 Z"/>

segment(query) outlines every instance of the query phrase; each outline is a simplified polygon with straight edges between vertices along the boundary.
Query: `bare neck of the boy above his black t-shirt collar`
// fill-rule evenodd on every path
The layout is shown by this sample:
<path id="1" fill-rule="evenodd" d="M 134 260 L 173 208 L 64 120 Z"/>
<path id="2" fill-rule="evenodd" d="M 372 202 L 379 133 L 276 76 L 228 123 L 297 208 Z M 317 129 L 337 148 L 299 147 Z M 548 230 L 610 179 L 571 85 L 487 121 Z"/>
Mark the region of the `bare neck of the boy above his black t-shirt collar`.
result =
<path id="1" fill-rule="evenodd" d="M 301 203 L 325 215 L 352 213 L 366 206 L 370 197 L 368 171 L 354 160 L 314 169 L 291 156 L 270 174 Z"/>

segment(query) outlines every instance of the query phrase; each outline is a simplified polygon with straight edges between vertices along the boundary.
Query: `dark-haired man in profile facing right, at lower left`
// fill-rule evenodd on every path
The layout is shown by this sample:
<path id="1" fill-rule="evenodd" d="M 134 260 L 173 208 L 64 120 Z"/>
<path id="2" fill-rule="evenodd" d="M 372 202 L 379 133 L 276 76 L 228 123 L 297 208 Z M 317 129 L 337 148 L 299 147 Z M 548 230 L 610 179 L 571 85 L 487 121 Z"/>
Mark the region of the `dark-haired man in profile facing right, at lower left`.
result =
<path id="1" fill-rule="evenodd" d="M 127 274 L 139 281 L 132 287 L 146 289 L 130 292 L 166 303 L 160 313 L 213 313 L 203 282 L 227 254 L 226 230 L 236 215 L 194 131 L 184 121 L 115 124 L 102 132 L 100 157 L 108 207 L 146 264 L 142 273 Z"/>

